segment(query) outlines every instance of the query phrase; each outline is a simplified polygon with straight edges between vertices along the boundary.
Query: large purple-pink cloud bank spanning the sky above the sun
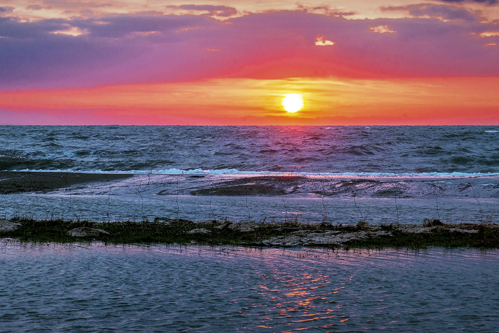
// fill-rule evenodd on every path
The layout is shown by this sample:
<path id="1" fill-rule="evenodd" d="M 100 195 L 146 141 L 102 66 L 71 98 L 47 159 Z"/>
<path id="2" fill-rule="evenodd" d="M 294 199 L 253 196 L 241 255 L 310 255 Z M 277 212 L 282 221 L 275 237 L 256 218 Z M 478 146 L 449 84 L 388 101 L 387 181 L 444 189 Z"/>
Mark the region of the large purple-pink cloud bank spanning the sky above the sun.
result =
<path id="1" fill-rule="evenodd" d="M 396 38 L 373 28 L 397 31 Z M 1 90 L 212 77 L 499 76 L 497 54 L 478 38 L 497 25 L 477 21 L 354 20 L 302 10 L 223 21 L 135 13 L 38 21 L 0 17 L 0 31 Z M 330 45 L 324 32 L 334 47 L 310 42 Z"/>

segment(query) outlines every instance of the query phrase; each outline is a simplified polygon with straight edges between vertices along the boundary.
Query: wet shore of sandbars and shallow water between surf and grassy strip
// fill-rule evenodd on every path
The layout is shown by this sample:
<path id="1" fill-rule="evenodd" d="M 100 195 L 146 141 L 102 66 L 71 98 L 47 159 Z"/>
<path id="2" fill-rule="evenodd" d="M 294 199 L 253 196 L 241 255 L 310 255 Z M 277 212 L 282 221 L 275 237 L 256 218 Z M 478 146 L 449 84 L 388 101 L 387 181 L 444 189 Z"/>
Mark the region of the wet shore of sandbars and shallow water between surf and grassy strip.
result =
<path id="1" fill-rule="evenodd" d="M 498 223 L 499 177 L 0 171 L 0 219 Z"/>

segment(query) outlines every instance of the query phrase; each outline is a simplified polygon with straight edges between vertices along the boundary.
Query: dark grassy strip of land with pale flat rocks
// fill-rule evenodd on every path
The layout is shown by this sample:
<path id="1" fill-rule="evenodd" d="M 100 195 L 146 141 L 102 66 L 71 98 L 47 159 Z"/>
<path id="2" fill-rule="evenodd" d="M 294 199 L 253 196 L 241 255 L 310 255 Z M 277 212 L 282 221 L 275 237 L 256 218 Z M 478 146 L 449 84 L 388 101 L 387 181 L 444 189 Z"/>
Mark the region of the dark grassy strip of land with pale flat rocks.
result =
<path id="1" fill-rule="evenodd" d="M 499 249 L 497 224 L 355 225 L 278 224 L 157 218 L 143 222 L 0 219 L 0 239 L 31 243 L 231 245 L 316 248 Z"/>

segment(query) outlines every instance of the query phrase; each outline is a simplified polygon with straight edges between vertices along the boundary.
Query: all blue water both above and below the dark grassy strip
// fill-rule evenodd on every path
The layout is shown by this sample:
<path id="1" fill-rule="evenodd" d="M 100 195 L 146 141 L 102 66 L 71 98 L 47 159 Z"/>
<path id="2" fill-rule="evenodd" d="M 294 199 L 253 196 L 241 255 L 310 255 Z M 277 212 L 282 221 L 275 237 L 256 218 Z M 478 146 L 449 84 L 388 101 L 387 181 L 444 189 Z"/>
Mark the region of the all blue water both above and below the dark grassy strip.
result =
<path id="1" fill-rule="evenodd" d="M 0 126 L 0 175 L 100 176 L 2 193 L 0 218 L 497 223 L 498 138 L 498 126 Z M 116 173 L 129 177 L 102 180 Z M 498 264 L 497 250 L 1 239 L 0 332 L 497 332 Z"/>

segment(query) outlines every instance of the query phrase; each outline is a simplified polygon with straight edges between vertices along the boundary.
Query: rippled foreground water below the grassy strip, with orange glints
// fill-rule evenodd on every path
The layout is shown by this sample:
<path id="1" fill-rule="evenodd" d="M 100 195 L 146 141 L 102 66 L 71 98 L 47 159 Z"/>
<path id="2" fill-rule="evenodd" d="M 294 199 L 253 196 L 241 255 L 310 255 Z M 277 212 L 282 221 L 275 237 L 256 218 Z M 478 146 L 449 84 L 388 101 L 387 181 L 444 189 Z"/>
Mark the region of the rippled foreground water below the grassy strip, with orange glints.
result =
<path id="1" fill-rule="evenodd" d="M 3 241 L 2 332 L 494 332 L 499 251 Z"/>

